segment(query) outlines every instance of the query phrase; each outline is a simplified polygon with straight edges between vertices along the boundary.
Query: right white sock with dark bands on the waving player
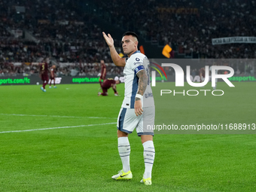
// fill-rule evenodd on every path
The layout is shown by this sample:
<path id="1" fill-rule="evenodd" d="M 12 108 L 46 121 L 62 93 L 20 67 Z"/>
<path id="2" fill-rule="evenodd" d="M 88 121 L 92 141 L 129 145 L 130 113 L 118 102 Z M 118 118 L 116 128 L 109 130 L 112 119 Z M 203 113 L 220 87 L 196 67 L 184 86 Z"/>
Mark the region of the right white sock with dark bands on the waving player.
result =
<path id="1" fill-rule="evenodd" d="M 145 163 L 145 172 L 143 178 L 151 178 L 153 163 L 154 163 L 154 143 L 153 141 L 144 142 L 144 163 Z"/>

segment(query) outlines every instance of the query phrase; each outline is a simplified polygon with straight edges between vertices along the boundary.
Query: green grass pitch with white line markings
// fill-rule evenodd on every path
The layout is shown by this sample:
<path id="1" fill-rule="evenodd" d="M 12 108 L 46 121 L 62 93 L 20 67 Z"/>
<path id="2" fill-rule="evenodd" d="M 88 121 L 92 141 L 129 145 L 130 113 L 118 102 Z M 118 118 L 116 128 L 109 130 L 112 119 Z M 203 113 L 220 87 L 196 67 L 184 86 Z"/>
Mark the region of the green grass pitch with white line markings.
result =
<path id="1" fill-rule="evenodd" d="M 160 97 L 160 89 L 200 90 L 174 83 L 153 87 L 157 123 L 256 123 L 255 84 L 218 83 L 224 96 Z M 152 185 L 139 183 L 143 148 L 130 135 L 131 181 L 121 169 L 116 121 L 123 100 L 97 96 L 99 84 L 0 87 L 0 191 L 255 191 L 254 134 L 170 134 L 156 131 Z M 210 85 L 206 85 L 211 89 Z M 160 134 L 158 134 L 160 133 Z"/>

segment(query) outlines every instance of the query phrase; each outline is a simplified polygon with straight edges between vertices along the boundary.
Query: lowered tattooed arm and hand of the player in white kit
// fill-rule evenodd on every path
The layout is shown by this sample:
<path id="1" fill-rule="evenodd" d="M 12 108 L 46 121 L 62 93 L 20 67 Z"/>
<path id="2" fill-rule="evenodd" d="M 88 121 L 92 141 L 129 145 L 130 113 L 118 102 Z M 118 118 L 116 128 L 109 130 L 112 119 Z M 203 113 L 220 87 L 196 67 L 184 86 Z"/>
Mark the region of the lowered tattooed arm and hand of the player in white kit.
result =
<path id="1" fill-rule="evenodd" d="M 145 71 L 145 69 L 143 69 L 137 73 L 137 76 L 139 78 L 137 94 L 143 96 L 143 94 L 145 93 L 145 90 L 147 88 L 147 84 L 148 84 L 148 75 L 147 75 L 147 72 Z M 136 116 L 142 114 L 143 109 L 142 109 L 142 99 L 141 98 L 139 98 L 139 97 L 135 98 L 134 109 L 135 109 Z"/>

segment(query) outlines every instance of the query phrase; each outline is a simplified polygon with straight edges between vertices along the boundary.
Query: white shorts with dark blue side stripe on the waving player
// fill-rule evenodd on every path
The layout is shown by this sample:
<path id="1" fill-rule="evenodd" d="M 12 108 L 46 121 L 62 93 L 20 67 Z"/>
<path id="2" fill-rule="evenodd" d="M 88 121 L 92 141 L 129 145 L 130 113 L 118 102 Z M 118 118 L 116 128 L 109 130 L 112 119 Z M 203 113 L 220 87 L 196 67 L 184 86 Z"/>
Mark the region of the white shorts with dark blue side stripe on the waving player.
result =
<path id="1" fill-rule="evenodd" d="M 117 130 L 130 134 L 136 128 L 138 136 L 154 136 L 154 130 L 151 130 L 151 127 L 154 127 L 154 107 L 143 108 L 143 113 L 139 116 L 136 116 L 134 108 L 120 108 Z"/>

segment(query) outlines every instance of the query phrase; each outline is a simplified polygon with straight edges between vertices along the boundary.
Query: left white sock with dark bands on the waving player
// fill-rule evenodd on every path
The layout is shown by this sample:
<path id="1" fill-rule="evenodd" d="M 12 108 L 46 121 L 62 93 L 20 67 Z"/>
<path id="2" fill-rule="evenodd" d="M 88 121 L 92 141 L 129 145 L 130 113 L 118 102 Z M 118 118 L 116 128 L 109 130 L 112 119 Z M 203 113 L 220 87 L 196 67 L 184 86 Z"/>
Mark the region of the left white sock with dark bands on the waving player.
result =
<path id="1" fill-rule="evenodd" d="M 118 152 L 123 163 L 123 172 L 130 171 L 130 142 L 128 137 L 118 138 Z"/>

